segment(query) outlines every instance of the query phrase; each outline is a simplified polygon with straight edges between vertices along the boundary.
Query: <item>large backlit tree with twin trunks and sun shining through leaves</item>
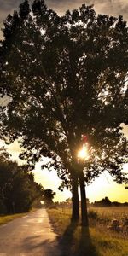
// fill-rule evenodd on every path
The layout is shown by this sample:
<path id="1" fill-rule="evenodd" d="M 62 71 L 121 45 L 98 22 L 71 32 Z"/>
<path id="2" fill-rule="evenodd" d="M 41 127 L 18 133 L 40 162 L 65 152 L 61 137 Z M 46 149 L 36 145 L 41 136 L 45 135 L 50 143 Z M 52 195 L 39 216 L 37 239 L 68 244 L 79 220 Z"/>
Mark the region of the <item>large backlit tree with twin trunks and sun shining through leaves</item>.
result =
<path id="1" fill-rule="evenodd" d="M 126 182 L 125 137 L 128 31 L 122 16 L 96 15 L 92 6 L 59 17 L 43 0 L 27 1 L 4 21 L 1 42 L 1 135 L 20 137 L 22 155 L 34 166 L 48 156 L 73 192 L 73 220 L 87 225 L 85 183 L 104 170 Z M 78 159 L 87 138 L 90 157 Z"/>

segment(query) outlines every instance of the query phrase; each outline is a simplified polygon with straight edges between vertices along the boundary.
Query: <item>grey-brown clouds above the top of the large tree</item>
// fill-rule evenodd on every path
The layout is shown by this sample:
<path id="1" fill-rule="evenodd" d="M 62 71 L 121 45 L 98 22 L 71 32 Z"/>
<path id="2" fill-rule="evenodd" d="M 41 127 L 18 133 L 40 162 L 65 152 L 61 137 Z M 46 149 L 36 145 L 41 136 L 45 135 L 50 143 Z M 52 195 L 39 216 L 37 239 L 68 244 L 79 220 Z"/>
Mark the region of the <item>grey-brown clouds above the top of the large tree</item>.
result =
<path id="1" fill-rule="evenodd" d="M 21 2 L 21 0 L 0 0 L 0 27 L 2 27 L 3 20 L 6 19 L 7 15 L 18 9 Z M 124 15 L 124 20 L 128 20 L 127 0 L 45 0 L 45 2 L 59 15 L 63 15 L 67 9 L 79 9 L 82 3 L 86 3 L 86 5 L 94 4 L 97 14 Z"/>

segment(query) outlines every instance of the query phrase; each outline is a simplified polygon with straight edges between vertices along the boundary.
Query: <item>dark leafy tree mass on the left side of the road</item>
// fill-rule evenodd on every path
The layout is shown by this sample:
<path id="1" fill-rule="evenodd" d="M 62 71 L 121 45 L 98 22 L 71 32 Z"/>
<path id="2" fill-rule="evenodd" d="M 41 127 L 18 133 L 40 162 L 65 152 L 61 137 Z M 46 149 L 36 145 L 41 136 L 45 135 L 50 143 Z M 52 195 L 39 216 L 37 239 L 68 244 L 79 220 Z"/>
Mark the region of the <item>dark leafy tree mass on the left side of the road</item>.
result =
<path id="1" fill-rule="evenodd" d="M 34 182 L 26 166 L 5 158 L 0 154 L 0 212 L 26 212 L 35 200 L 41 200 L 43 187 Z"/>

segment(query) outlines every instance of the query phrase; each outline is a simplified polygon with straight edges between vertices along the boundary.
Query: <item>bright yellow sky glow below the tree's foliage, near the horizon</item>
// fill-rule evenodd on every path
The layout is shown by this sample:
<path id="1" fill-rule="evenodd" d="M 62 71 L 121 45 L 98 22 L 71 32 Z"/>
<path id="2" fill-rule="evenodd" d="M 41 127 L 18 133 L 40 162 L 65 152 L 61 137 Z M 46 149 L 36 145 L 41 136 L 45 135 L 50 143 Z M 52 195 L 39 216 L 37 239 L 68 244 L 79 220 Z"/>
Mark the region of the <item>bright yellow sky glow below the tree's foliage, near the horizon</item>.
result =
<path id="1" fill-rule="evenodd" d="M 128 137 L 128 126 L 123 125 L 123 132 L 125 137 Z M 3 146 L 1 141 L 0 146 Z M 12 155 L 12 159 L 22 164 L 22 160 L 19 160 L 18 155 L 20 154 L 21 148 L 17 141 L 5 146 L 8 149 L 9 154 Z M 41 165 L 43 162 L 38 162 L 35 170 L 34 177 L 35 181 L 42 184 L 44 189 L 52 189 L 56 192 L 55 201 L 65 201 L 67 198 L 71 197 L 71 192 L 64 189 L 63 192 L 58 190 L 61 180 L 57 176 L 55 170 L 49 172 L 47 169 L 41 170 Z M 124 165 L 124 171 L 128 173 L 128 164 Z M 86 187 L 87 197 L 90 202 L 99 201 L 103 197 L 108 196 L 111 201 L 125 202 L 128 201 L 128 190 L 125 189 L 125 185 L 119 185 L 113 182 L 113 177 L 111 177 L 108 172 L 102 172 L 102 175 Z"/>

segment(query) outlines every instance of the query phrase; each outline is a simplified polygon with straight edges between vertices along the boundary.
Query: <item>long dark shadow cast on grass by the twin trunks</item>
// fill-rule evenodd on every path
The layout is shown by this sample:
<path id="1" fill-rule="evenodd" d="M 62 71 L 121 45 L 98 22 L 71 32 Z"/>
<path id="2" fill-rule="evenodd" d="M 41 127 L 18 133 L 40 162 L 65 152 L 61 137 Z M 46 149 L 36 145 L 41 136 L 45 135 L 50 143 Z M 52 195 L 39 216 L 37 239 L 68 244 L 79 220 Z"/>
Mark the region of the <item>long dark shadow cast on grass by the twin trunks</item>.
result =
<path id="1" fill-rule="evenodd" d="M 60 239 L 61 256 L 99 256 L 86 227 L 79 227 L 80 236 L 77 234 L 78 224 L 68 225 Z"/>

